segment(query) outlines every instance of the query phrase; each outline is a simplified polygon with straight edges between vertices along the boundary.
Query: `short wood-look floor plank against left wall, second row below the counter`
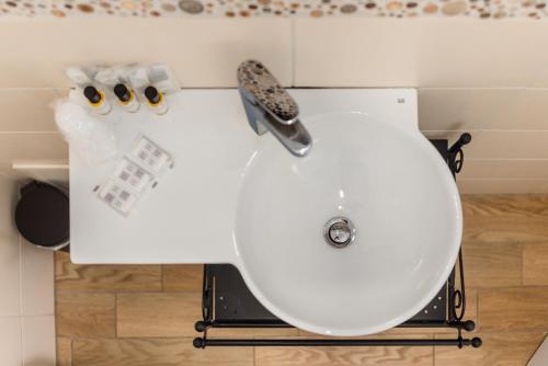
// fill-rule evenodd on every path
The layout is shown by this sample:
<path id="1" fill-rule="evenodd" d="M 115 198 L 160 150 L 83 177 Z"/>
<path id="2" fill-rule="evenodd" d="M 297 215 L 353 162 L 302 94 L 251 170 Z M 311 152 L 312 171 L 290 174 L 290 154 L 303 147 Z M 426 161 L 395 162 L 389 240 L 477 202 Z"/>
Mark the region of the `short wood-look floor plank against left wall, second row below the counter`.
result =
<path id="1" fill-rule="evenodd" d="M 57 293 L 57 335 L 115 336 L 115 295 Z"/>

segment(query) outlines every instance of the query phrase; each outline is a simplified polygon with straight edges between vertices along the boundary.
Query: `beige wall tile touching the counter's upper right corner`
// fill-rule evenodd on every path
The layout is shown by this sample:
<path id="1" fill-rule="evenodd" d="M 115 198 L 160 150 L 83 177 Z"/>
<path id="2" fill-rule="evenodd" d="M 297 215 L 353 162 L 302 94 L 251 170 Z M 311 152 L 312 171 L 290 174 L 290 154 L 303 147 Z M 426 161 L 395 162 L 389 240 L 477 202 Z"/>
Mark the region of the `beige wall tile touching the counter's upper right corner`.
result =
<path id="1" fill-rule="evenodd" d="M 425 130 L 548 130 L 546 89 L 420 89 Z"/>

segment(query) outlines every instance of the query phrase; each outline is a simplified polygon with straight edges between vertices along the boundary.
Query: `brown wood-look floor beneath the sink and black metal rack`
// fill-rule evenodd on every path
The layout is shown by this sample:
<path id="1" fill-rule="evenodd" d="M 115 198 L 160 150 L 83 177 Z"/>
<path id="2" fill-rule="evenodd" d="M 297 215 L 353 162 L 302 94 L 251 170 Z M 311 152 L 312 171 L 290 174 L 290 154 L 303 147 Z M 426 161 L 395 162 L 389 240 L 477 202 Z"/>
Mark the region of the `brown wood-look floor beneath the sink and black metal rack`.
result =
<path id="1" fill-rule="evenodd" d="M 57 253 L 58 365 L 525 365 L 548 332 L 548 196 L 468 196 L 464 210 L 467 318 L 477 320 L 479 350 L 195 350 L 199 265 L 81 266 Z M 380 336 L 453 335 L 413 332 Z M 222 332 L 230 334 L 307 335 L 295 329 Z"/>

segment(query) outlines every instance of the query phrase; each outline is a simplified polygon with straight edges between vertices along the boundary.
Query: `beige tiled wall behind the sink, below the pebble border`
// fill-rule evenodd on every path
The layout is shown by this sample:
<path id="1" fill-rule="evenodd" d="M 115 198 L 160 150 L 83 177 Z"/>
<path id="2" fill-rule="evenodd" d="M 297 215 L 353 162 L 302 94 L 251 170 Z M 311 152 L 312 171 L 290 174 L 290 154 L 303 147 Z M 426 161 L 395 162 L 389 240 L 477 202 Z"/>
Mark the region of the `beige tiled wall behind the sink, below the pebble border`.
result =
<path id="1" fill-rule="evenodd" d="M 472 133 L 463 192 L 548 192 L 547 22 L 12 19 L 0 35 L 0 171 L 9 174 L 13 160 L 67 159 L 48 108 L 70 87 L 66 66 L 162 61 L 183 88 L 226 88 L 241 60 L 258 58 L 286 87 L 416 87 L 427 136 Z"/>

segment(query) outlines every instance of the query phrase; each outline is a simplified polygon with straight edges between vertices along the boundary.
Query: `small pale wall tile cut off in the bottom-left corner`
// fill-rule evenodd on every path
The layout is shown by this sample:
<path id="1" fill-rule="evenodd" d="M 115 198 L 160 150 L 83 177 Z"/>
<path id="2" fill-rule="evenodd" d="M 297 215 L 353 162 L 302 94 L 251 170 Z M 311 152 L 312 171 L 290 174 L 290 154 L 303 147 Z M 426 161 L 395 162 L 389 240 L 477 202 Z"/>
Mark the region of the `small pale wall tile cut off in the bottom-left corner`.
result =
<path id="1" fill-rule="evenodd" d="M 0 318 L 0 365 L 23 366 L 21 318 Z"/>

